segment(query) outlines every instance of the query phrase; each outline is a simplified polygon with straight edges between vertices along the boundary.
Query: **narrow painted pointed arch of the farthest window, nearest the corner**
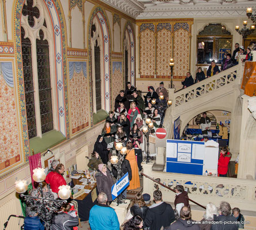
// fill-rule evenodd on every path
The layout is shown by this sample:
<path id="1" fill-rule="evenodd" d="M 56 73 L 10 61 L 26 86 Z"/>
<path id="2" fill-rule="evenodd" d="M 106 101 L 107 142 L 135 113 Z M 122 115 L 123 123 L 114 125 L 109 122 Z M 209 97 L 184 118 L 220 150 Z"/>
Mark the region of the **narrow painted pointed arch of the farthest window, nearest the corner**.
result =
<path id="1" fill-rule="evenodd" d="M 125 55 L 125 46 L 128 49 L 128 79 L 135 86 L 135 38 L 134 38 L 133 26 L 130 21 L 127 21 L 124 26 L 123 33 L 123 55 Z M 125 56 L 124 56 L 125 59 Z M 125 74 L 125 65 L 124 65 Z M 125 75 L 124 75 L 125 78 Z"/>

